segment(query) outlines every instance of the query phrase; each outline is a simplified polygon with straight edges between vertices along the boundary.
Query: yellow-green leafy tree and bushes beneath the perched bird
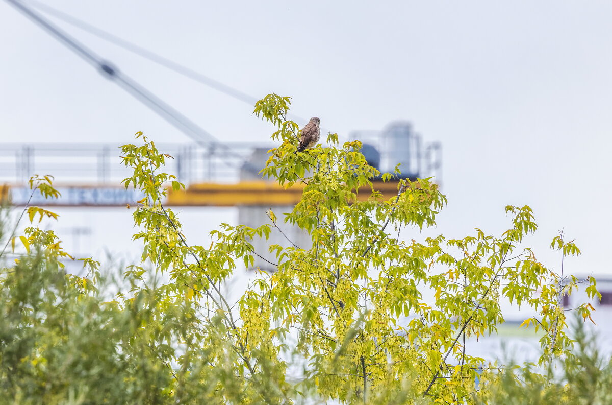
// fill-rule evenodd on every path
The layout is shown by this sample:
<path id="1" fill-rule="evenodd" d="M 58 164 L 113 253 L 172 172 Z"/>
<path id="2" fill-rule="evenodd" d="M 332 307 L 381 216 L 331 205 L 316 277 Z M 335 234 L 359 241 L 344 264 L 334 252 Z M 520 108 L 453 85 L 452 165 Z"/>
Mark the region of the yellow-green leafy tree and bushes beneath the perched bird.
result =
<path id="1" fill-rule="evenodd" d="M 261 254 L 253 238 L 286 225 L 270 212 L 271 223 L 257 228 L 221 225 L 208 248 L 188 243 L 176 213 L 163 206 L 166 184 L 184 187 L 162 172 L 171 156 L 139 132 L 143 145 L 121 147 L 122 162 L 133 169 L 124 184 L 145 195 L 133 207 L 142 262 L 125 271 L 127 288 L 105 300 L 108 286 L 93 259 L 82 259 L 86 277 L 64 274 L 62 260 L 71 257 L 52 231 L 32 225 L 9 239 L 26 252 L 0 279 L 0 386 L 7 398 L 496 403 L 514 389 L 535 387 L 529 379 L 521 383 L 516 370 L 498 373 L 465 352 L 465 338 L 490 335 L 504 322 L 504 299 L 537 312 L 524 325 L 545 331 L 540 366 L 583 361 L 571 353 L 561 297 L 580 282 L 594 297 L 595 280 L 562 278 L 521 246 L 537 229 L 529 206 L 507 206 L 510 227 L 499 236 L 476 229 L 457 239 L 417 241 L 414 233 L 400 240 L 401 229 L 435 225 L 446 203 L 438 186 L 431 178 L 398 180 L 398 170 L 381 175 L 359 152 L 360 142 L 338 145 L 336 134 L 297 153 L 299 127 L 285 119 L 289 104 L 289 97 L 270 94 L 255 105 L 280 143 L 261 173 L 285 187 L 304 184 L 283 222 L 306 230 L 312 243 L 269 246 L 278 270 L 260 272 L 239 301 L 228 302 L 223 283 Z M 394 198 L 376 191 L 379 175 L 397 181 Z M 49 177 L 33 178 L 31 188 L 57 196 Z M 37 214 L 56 217 L 37 207 L 23 212 L 31 222 Z M 562 237 L 553 248 L 580 253 Z M 164 281 L 152 282 L 158 272 Z M 584 319 L 591 310 L 578 307 Z M 534 373 L 521 376 L 556 387 L 550 376 Z"/>

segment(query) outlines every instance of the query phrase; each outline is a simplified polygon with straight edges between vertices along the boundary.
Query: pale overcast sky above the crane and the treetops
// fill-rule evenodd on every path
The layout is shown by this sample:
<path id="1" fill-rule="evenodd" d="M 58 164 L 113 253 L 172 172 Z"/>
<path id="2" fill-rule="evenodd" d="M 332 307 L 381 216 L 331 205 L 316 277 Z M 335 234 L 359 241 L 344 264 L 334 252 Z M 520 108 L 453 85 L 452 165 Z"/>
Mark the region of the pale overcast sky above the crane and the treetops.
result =
<path id="1" fill-rule="evenodd" d="M 444 153 L 449 205 L 427 235 L 499 233 L 504 206 L 528 204 L 545 263 L 558 268 L 564 228 L 583 249 L 569 270 L 611 274 L 610 1 L 47 4 L 244 93 L 291 96 L 341 136 L 408 119 Z M 215 137 L 269 139 L 252 106 L 58 24 Z M 1 142 L 188 142 L 4 1 L 0 55 Z"/>

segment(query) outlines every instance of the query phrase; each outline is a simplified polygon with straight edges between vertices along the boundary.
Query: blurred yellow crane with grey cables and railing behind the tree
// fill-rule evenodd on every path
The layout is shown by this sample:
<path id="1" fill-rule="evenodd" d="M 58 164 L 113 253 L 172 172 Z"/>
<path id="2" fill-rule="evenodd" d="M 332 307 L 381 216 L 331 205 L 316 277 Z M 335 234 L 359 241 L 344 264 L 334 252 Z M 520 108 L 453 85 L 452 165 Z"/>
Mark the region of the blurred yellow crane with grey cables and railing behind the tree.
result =
<path id="1" fill-rule="evenodd" d="M 299 185 L 285 190 L 256 176 L 262 166 L 262 152 L 269 149 L 270 145 L 218 142 L 215 137 L 198 124 L 122 73 L 113 63 L 96 55 L 94 51 L 89 50 L 58 26 L 39 13 L 34 12 L 31 7 L 19 0 L 6 1 L 74 51 L 88 64 L 94 66 L 106 78 L 132 94 L 137 100 L 151 108 L 195 142 L 195 145 L 160 145 L 161 150 L 176 157 L 173 161 L 174 167 L 169 168 L 169 171 L 175 173 L 180 181 L 188 184 L 186 192 L 169 191 L 166 201 L 168 205 L 285 206 L 293 205 L 299 201 L 302 193 L 302 187 Z M 37 2 L 34 2 L 34 4 L 67 23 L 86 29 L 103 39 L 110 40 L 114 44 L 198 80 L 236 99 L 250 104 L 253 104 L 255 100 L 255 97 L 248 96 L 230 86 L 193 72 L 193 70 L 182 67 L 162 56 L 143 50 L 143 48 L 87 25 L 83 21 L 70 17 L 52 7 Z M 376 147 L 367 145 L 367 148 L 364 148 L 364 153 L 380 154 L 379 151 L 382 148 L 382 156 L 383 158 L 386 157 L 387 161 L 389 159 L 397 160 L 397 157 L 401 162 L 406 161 L 411 165 L 416 162 L 414 167 L 417 169 L 411 169 L 410 177 L 424 176 L 425 173 L 427 173 L 426 175 L 438 174 L 441 168 L 439 144 L 431 143 L 427 146 L 426 153 L 422 155 L 420 137 L 413 135 L 409 127 L 402 125 L 395 124 L 393 126 L 395 131 L 393 134 L 395 135 L 387 136 L 394 143 L 386 142 L 384 145 Z M 391 133 L 389 132 L 389 134 Z M 406 142 L 404 143 L 401 142 L 402 134 L 406 135 Z M 383 139 L 386 138 L 383 136 Z M 398 148 L 398 146 L 400 147 Z M 113 164 L 112 157 L 116 156 L 113 153 L 113 150 L 116 151 L 114 148 L 116 148 L 115 145 L 74 143 L 64 145 L 41 143 L 36 145 L 0 145 L 0 183 L 4 182 L 6 184 L 0 190 L 0 197 L 7 197 L 10 189 L 13 204 L 21 205 L 28 200 L 31 194 L 24 186 L 29 176 L 32 173 L 50 173 L 59 179 L 59 189 L 64 195 L 62 199 L 54 202 L 55 205 L 116 206 L 133 203 L 139 200 L 140 196 L 138 193 L 125 190 L 119 186 L 119 181 L 129 176 L 129 173 L 125 172 L 125 169 L 122 169 L 119 164 Z M 390 152 L 386 153 L 385 150 L 392 151 L 394 156 L 391 156 Z M 398 151 L 403 151 L 403 155 L 398 155 Z M 75 170 L 77 167 L 78 169 Z M 423 167 L 428 170 L 422 170 Z M 389 197 L 397 192 L 396 185 L 389 183 L 380 183 L 377 185 L 377 189 L 384 195 L 389 195 Z M 34 199 L 31 203 L 48 205 L 53 202 Z"/>

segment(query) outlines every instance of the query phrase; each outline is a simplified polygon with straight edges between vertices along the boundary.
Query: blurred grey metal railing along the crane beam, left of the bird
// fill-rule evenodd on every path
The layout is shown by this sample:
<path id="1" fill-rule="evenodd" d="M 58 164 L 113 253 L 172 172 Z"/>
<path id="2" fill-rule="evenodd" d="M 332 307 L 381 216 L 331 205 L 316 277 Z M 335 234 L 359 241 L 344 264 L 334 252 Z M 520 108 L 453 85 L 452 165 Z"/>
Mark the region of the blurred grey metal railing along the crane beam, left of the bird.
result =
<path id="1" fill-rule="evenodd" d="M 166 161 L 165 171 L 185 184 L 237 181 L 241 169 L 256 171 L 246 163 L 253 150 L 271 147 L 248 143 L 156 146 L 174 157 Z M 24 184 L 36 173 L 53 175 L 58 183 L 118 184 L 131 175 L 121 164 L 120 154 L 116 144 L 106 143 L 4 143 L 0 144 L 0 183 Z"/>

